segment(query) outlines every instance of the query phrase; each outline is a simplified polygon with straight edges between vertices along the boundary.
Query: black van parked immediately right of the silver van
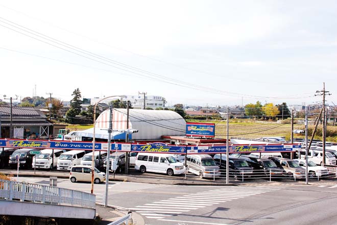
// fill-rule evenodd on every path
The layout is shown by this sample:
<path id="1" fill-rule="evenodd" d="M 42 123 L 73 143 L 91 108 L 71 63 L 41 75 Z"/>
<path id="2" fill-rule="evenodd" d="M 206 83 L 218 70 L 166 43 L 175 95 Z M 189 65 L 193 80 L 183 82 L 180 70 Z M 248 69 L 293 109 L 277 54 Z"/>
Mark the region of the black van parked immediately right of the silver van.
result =
<path id="1" fill-rule="evenodd" d="M 215 154 L 213 159 L 221 170 L 226 170 L 226 156 L 220 158 L 220 154 Z M 239 177 L 252 178 L 254 176 L 253 168 L 249 166 L 247 161 L 232 156 L 229 156 L 229 175 L 235 179 Z"/>

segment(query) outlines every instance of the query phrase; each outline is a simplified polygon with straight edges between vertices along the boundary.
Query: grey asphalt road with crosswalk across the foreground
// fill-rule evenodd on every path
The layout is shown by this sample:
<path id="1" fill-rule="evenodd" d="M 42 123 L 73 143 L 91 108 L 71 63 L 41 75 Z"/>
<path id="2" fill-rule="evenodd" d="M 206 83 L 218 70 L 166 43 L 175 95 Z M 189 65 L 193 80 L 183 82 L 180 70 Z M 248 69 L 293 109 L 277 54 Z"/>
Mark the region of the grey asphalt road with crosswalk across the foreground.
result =
<path id="1" fill-rule="evenodd" d="M 49 184 L 49 178 L 20 177 Z M 89 183 L 58 187 L 90 192 Z M 94 185 L 103 202 L 105 184 Z M 335 224 L 337 185 L 174 186 L 109 182 L 109 205 L 141 214 L 148 225 Z"/>

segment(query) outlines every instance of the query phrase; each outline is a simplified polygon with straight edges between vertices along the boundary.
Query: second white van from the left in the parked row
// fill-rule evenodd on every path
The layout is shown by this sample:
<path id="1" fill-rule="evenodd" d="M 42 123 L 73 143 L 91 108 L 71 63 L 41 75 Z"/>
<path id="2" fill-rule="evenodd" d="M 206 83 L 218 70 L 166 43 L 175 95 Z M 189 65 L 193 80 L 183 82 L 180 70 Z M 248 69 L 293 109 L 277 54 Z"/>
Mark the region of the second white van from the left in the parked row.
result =
<path id="1" fill-rule="evenodd" d="M 71 150 L 62 153 L 57 161 L 57 169 L 70 170 L 72 166 L 80 165 L 81 159 L 84 155 L 84 150 Z"/>

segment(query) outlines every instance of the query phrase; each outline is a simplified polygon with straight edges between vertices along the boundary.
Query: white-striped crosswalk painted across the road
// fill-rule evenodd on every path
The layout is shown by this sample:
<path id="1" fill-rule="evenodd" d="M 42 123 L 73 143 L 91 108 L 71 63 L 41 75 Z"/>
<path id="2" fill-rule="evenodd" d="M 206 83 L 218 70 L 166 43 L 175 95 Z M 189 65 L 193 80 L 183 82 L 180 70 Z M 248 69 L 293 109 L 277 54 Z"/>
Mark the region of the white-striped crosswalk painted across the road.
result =
<path id="1" fill-rule="evenodd" d="M 129 210 L 149 219 L 162 219 L 168 216 L 179 215 L 191 210 L 221 204 L 226 201 L 245 198 L 252 195 L 263 194 L 270 191 L 283 189 L 280 187 L 224 187 L 215 190 L 191 193 L 187 195 L 154 201 Z"/>

